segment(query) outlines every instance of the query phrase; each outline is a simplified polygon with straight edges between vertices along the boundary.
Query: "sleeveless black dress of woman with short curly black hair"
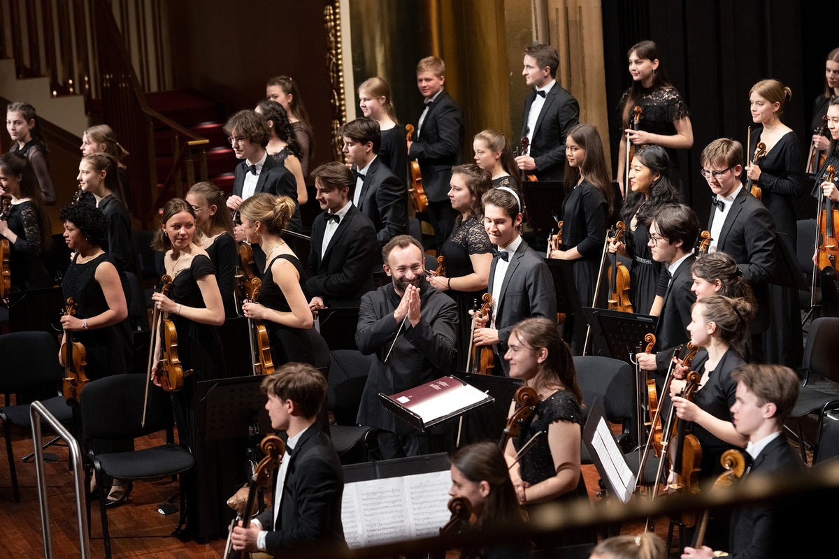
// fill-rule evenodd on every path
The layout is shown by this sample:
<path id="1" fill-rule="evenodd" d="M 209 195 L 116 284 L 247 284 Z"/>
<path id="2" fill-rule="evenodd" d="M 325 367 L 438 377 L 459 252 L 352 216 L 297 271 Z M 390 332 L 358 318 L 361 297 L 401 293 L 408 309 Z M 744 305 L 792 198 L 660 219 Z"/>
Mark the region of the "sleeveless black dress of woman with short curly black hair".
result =
<path id="1" fill-rule="evenodd" d="M 108 310 L 105 293 L 96 281 L 96 268 L 105 262 L 112 262 L 107 254 L 96 256 L 84 264 L 78 263 L 78 255 L 70 263 L 61 281 L 61 293 L 66 301 L 76 302 L 76 318 L 92 318 Z M 73 340 L 85 346 L 87 378 L 101 379 L 104 376 L 131 372 L 132 345 L 128 329 L 117 323 L 107 328 L 79 330 L 73 333 Z"/>

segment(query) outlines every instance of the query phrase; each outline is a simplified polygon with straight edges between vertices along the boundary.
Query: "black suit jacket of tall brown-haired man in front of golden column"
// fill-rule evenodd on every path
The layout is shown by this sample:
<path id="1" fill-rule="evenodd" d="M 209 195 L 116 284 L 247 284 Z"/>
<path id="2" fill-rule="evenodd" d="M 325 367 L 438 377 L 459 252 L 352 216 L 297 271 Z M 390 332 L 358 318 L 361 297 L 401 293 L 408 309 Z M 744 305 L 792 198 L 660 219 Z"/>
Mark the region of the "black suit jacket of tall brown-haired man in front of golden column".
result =
<path id="1" fill-rule="evenodd" d="M 522 136 L 527 136 L 527 121 L 530 106 L 536 98 L 536 91 L 530 91 L 524 100 Z M 580 123 L 580 106 L 574 96 L 560 87 L 550 89 L 545 105 L 539 111 L 536 129 L 530 141 L 530 156 L 536 161 L 536 177 L 539 180 L 562 180 L 565 172 L 565 136 L 572 127 Z"/>

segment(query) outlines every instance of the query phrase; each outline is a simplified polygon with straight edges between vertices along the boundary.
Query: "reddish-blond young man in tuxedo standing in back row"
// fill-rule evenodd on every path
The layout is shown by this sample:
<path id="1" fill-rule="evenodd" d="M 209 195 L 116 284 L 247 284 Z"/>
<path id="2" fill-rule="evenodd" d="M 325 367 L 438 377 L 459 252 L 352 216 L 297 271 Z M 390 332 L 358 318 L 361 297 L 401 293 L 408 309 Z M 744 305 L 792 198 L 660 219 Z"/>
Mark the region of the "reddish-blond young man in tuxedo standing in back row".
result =
<path id="1" fill-rule="evenodd" d="M 463 113 L 448 92 L 446 63 L 427 56 L 417 65 L 417 87 L 425 109 L 417 123 L 414 141 L 408 142 L 408 158 L 420 163 L 422 184 L 428 197 L 428 215 L 434 227 L 437 250 L 455 226 L 457 211 L 449 200 L 451 168 L 463 163 Z"/>

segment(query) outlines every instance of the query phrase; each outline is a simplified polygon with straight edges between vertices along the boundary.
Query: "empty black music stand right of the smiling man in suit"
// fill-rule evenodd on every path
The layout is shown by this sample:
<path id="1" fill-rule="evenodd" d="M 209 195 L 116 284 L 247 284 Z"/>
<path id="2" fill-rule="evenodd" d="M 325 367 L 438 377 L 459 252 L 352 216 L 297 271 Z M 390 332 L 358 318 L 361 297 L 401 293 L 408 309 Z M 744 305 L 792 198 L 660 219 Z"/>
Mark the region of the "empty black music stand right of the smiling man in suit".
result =
<path id="1" fill-rule="evenodd" d="M 622 360 L 634 366 L 630 357 L 638 351 L 638 344 L 644 336 L 654 334 L 659 317 L 649 314 L 621 313 L 606 308 L 583 307 L 583 313 L 591 324 L 591 334 L 602 340 L 599 347 L 607 350 L 606 357 Z M 597 347 L 597 345 L 595 345 Z"/>

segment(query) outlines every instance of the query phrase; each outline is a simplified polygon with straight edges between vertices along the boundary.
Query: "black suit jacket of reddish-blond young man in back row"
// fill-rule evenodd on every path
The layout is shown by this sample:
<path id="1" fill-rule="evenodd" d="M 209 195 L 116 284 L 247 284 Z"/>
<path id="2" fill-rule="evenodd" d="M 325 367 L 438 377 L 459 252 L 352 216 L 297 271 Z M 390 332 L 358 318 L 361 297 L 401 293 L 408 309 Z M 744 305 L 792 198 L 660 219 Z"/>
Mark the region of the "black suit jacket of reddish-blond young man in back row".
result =
<path id="1" fill-rule="evenodd" d="M 420 163 L 423 189 L 431 202 L 448 197 L 451 168 L 463 163 L 462 147 L 463 113 L 443 90 L 431 103 L 408 153 L 409 159 Z"/>

